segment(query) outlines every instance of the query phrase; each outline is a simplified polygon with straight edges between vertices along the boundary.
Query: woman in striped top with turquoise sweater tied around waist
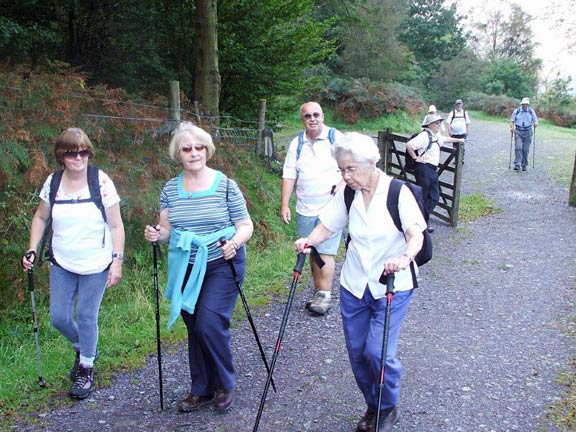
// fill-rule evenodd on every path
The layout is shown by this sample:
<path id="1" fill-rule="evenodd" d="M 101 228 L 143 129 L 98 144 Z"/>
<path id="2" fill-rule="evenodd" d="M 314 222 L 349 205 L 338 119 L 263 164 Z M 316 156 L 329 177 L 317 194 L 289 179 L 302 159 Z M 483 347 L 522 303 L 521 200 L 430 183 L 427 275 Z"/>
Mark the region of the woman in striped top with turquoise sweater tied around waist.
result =
<path id="1" fill-rule="evenodd" d="M 232 260 L 241 284 L 246 274 L 244 244 L 254 227 L 236 182 L 208 167 L 215 151 L 208 132 L 180 123 L 168 153 L 182 172 L 162 189 L 159 223 L 144 229 L 149 242 L 169 242 L 168 327 L 180 315 L 188 332 L 191 384 L 178 404 L 180 412 L 213 403 L 223 413 L 234 402 L 230 320 L 238 287 L 227 260 Z M 227 240 L 224 245 L 222 237 Z"/>

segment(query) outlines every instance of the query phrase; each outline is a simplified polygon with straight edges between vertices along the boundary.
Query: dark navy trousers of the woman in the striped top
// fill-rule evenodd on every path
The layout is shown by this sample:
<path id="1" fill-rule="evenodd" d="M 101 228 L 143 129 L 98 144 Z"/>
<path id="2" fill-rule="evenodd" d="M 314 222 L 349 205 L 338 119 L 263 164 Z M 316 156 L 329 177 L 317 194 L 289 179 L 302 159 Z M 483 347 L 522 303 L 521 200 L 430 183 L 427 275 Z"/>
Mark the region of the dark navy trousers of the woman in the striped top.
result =
<path id="1" fill-rule="evenodd" d="M 232 262 L 242 284 L 246 274 L 246 248 L 238 249 Z M 187 276 L 191 270 L 189 266 Z M 232 269 L 226 260 L 219 258 L 208 262 L 194 314 L 181 311 L 188 330 L 190 392 L 195 396 L 212 395 L 217 388 L 230 391 L 235 386 L 230 319 L 237 298 L 238 286 Z"/>

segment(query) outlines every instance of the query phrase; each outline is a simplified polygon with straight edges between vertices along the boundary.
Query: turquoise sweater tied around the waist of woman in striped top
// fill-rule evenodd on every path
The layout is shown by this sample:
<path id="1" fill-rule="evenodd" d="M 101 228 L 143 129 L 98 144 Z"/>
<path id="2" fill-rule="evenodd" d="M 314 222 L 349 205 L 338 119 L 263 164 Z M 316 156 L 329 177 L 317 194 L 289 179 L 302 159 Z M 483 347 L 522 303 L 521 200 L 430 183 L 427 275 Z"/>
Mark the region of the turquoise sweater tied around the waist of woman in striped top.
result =
<path id="1" fill-rule="evenodd" d="M 182 309 L 190 314 L 194 313 L 206 274 L 208 245 L 217 242 L 223 236 L 227 239 L 231 238 L 235 232 L 236 227 L 233 225 L 204 235 L 196 234 L 194 231 L 172 228 L 168 246 L 168 281 L 165 293 L 165 297 L 172 300 L 168 328 L 174 325 Z M 193 245 L 198 247 L 198 251 L 194 259 L 192 273 L 184 290 L 182 290 L 184 276 L 190 261 L 190 249 Z"/>

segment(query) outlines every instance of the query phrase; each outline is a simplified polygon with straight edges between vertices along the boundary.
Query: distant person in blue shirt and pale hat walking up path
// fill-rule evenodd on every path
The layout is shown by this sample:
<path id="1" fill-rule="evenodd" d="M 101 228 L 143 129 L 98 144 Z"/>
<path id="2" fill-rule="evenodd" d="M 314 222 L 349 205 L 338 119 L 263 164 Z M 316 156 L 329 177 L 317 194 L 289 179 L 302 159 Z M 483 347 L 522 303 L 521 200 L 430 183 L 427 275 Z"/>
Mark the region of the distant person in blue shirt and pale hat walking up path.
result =
<path id="1" fill-rule="evenodd" d="M 520 106 L 510 116 L 510 133 L 514 134 L 514 171 L 526 171 L 530 144 L 532 143 L 532 127 L 536 130 L 538 116 L 530 108 L 530 99 L 522 98 Z"/>

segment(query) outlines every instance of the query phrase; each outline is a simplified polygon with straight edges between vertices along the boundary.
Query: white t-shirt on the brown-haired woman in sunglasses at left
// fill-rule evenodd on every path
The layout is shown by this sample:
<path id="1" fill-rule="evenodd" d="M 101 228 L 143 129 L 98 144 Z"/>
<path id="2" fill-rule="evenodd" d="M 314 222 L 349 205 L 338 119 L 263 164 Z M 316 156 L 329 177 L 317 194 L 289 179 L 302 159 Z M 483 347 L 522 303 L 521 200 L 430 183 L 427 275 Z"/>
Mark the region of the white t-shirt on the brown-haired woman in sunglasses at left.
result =
<path id="1" fill-rule="evenodd" d="M 40 191 L 40 199 L 50 205 L 50 174 Z M 105 208 L 120 202 L 114 183 L 103 171 L 98 180 Z M 90 198 L 88 185 L 78 192 L 66 194 L 62 183 L 56 201 Z M 58 265 L 76 274 L 100 273 L 112 261 L 110 228 L 93 202 L 54 204 L 52 209 L 52 251 Z M 104 244 L 102 241 L 104 240 Z"/>

